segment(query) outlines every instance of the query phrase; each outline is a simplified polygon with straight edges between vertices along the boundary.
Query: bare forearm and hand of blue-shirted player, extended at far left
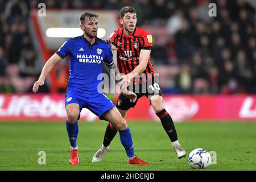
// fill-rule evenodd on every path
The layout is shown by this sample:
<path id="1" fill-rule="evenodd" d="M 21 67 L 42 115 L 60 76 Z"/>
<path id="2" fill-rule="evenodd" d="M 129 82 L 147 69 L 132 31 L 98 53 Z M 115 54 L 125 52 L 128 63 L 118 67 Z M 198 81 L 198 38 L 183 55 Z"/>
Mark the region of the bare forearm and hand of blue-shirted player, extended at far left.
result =
<path id="1" fill-rule="evenodd" d="M 61 60 L 61 57 L 59 55 L 57 55 L 56 53 L 48 59 L 48 61 L 46 62 L 46 64 L 44 65 L 44 67 L 42 69 L 42 72 L 41 72 L 40 77 L 38 78 L 38 81 L 36 81 L 34 83 L 34 86 L 32 89 L 34 93 L 38 92 L 39 86 L 44 85 L 44 80 L 46 80 L 47 75 L 52 70 L 54 65 L 59 63 L 60 60 Z"/>

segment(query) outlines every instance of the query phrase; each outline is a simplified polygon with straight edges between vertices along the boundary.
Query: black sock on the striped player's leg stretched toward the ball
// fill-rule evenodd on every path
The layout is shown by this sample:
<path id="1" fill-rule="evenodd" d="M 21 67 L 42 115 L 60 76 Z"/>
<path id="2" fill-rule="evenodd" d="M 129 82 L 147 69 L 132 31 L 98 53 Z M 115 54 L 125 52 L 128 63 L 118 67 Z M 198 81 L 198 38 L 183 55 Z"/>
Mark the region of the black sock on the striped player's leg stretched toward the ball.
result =
<path id="1" fill-rule="evenodd" d="M 177 133 L 174 126 L 174 121 L 172 121 L 170 114 L 168 114 L 168 112 L 163 109 L 159 113 L 156 113 L 156 115 L 160 118 L 163 128 L 164 130 L 166 130 L 168 137 L 171 139 L 172 142 L 175 142 L 177 140 Z"/>

